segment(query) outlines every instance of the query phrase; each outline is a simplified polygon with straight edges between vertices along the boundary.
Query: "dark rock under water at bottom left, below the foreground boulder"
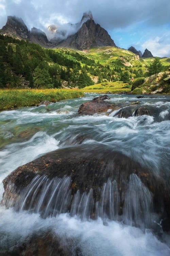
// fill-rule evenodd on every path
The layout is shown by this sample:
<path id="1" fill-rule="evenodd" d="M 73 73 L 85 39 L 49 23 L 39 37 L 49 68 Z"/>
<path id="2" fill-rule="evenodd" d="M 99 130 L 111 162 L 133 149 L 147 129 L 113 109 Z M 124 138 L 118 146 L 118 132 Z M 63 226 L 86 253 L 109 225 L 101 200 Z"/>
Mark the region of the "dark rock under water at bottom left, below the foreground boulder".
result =
<path id="1" fill-rule="evenodd" d="M 57 236 L 53 230 L 40 230 L 14 245 L 7 256 L 81 256 L 76 239 Z M 78 253 L 78 254 L 77 254 Z"/>

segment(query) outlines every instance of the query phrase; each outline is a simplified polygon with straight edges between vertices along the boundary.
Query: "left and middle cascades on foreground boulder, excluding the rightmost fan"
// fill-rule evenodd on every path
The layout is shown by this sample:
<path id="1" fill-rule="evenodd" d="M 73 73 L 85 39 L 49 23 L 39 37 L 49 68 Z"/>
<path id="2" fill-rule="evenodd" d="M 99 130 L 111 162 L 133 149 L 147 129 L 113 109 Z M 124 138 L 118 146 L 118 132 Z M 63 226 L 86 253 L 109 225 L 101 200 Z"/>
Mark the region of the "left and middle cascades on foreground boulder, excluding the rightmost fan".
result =
<path id="1" fill-rule="evenodd" d="M 99 188 L 99 199 L 94 198 L 94 190 L 79 190 L 72 193 L 71 178 L 64 176 L 49 179 L 47 175 L 37 175 L 32 182 L 21 191 L 14 201 L 9 200 L 10 195 L 4 195 L 3 204 L 14 207 L 16 211 L 27 210 L 39 213 L 43 218 L 55 217 L 57 214 L 69 212 L 71 216 L 77 215 L 82 220 L 117 219 L 119 212 L 119 191 L 116 181 L 110 179 Z M 14 191 L 15 186 L 10 185 L 8 191 Z"/>

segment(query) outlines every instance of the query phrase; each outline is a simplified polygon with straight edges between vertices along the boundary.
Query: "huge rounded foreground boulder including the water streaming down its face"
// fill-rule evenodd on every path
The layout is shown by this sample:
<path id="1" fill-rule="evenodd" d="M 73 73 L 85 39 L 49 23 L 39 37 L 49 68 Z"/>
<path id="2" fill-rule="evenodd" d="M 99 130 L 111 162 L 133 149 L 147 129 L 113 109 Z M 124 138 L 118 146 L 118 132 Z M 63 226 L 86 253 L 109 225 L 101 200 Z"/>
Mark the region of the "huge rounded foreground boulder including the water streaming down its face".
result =
<path id="1" fill-rule="evenodd" d="M 82 219 L 131 219 L 137 225 L 139 220 L 152 225 L 154 212 L 170 229 L 168 182 L 164 170 L 157 175 L 108 146 L 82 144 L 48 153 L 13 171 L 3 180 L 2 204 L 43 217 L 70 212 Z"/>

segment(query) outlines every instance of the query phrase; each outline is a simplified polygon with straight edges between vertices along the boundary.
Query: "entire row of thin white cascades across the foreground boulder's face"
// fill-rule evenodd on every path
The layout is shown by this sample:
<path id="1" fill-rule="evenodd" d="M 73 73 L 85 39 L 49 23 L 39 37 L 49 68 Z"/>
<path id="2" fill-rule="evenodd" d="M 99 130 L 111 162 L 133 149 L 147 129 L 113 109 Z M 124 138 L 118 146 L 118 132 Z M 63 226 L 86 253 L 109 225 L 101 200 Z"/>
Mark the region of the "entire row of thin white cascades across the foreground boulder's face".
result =
<path id="1" fill-rule="evenodd" d="M 69 212 L 71 216 L 77 215 L 82 220 L 101 217 L 103 220 L 124 220 L 128 225 L 140 227 L 149 227 L 153 223 L 152 195 L 134 173 L 130 175 L 127 190 L 124 191 L 123 205 L 120 204 L 117 182 L 110 178 L 98 188 L 97 198 L 93 189 L 83 193 L 77 190 L 74 194 L 72 185 L 69 176 L 51 180 L 47 175 L 37 175 L 14 200 L 14 208 L 17 211 L 39 213 L 43 218 Z M 12 202 L 9 203 L 8 195 L 5 198 L 4 204 L 7 201 L 7 206 L 11 207 Z M 121 206 L 122 216 L 119 215 Z"/>

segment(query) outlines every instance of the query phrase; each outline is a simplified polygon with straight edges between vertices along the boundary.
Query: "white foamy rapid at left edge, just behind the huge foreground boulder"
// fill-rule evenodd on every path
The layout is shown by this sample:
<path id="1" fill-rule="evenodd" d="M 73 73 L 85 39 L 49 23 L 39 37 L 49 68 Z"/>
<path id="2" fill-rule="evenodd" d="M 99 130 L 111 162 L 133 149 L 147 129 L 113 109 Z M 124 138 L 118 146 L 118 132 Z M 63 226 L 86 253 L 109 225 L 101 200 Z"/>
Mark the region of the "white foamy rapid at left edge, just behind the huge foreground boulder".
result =
<path id="1" fill-rule="evenodd" d="M 2 197 L 2 180 L 17 167 L 24 165 L 41 154 L 56 150 L 59 141 L 46 132 L 37 132 L 30 140 L 13 143 L 0 151 L 0 199 Z M 9 161 L 10 160 L 10 161 Z"/>

